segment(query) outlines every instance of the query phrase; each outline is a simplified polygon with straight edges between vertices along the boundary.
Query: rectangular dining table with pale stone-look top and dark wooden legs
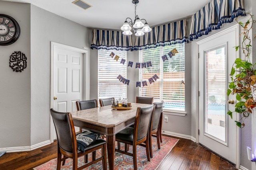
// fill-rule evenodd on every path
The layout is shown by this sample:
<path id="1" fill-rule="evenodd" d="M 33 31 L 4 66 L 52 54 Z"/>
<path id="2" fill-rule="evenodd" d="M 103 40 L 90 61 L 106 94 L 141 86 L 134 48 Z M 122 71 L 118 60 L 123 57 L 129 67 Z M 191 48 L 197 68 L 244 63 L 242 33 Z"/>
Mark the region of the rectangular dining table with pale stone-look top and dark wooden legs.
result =
<path id="1" fill-rule="evenodd" d="M 74 125 L 106 135 L 108 167 L 114 170 L 116 133 L 134 124 L 138 107 L 150 104 L 132 103 L 131 107 L 112 105 L 71 112 Z"/>

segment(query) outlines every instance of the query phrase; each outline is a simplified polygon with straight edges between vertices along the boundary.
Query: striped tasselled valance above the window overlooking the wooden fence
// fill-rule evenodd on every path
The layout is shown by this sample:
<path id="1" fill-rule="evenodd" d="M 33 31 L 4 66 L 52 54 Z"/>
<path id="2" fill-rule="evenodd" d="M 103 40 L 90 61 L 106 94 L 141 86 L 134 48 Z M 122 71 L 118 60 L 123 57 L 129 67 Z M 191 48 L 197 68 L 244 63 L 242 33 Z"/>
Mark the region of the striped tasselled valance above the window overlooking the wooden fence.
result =
<path id="1" fill-rule="evenodd" d="M 186 20 L 153 27 L 143 36 L 136 36 L 134 50 L 188 42 Z"/>

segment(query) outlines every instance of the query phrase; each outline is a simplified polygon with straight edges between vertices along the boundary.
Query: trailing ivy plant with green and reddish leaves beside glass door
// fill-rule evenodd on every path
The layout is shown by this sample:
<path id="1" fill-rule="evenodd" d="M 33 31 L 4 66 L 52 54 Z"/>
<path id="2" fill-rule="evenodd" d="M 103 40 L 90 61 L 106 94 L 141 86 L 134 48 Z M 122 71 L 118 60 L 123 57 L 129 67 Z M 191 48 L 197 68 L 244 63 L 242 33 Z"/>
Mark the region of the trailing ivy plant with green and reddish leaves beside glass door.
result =
<path id="1" fill-rule="evenodd" d="M 236 94 L 236 100 L 238 103 L 235 105 L 235 110 L 228 110 L 227 114 L 232 118 L 232 113 L 240 113 L 240 120 L 235 121 L 236 125 L 240 128 L 244 127 L 244 120 L 250 116 L 252 109 L 256 107 L 256 101 L 252 97 L 251 85 L 256 82 L 256 70 L 254 70 L 254 65 L 250 62 L 250 53 L 252 49 L 251 38 L 249 36 L 250 30 L 252 30 L 252 25 L 256 21 L 253 20 L 252 14 L 246 13 L 249 19 L 245 22 L 238 21 L 239 16 L 236 18 L 236 22 L 243 28 L 241 33 L 242 45 L 235 47 L 236 51 L 238 49 L 242 50 L 244 59 L 238 58 L 235 60 L 230 77 L 232 82 L 229 83 L 229 88 L 227 90 L 227 96 L 230 94 Z"/>

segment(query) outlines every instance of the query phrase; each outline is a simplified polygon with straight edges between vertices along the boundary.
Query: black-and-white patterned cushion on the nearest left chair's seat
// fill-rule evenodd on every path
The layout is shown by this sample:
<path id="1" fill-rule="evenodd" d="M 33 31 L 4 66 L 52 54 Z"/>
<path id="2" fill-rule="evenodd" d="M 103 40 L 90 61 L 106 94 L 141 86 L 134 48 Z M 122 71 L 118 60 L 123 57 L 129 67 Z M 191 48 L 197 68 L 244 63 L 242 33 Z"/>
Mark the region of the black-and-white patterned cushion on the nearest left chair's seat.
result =
<path id="1" fill-rule="evenodd" d="M 101 135 L 98 133 L 92 133 L 89 131 L 76 134 L 77 149 L 84 152 L 86 147 L 88 147 L 95 140 L 100 139 L 100 137 Z"/>

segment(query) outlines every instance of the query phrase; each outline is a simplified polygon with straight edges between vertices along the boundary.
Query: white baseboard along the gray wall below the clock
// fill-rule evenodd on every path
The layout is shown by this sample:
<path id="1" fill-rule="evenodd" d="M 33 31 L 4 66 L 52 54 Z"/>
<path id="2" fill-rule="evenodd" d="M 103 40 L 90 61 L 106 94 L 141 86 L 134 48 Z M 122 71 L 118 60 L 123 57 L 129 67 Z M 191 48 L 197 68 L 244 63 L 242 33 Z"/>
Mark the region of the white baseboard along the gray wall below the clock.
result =
<path id="1" fill-rule="evenodd" d="M 51 144 L 51 142 L 50 142 L 50 140 L 48 140 L 48 141 L 44 141 L 44 142 L 38 143 L 36 145 L 27 146 L 27 147 L 0 148 L 0 152 L 4 152 L 4 151 L 6 151 L 7 153 L 10 153 L 10 152 L 24 152 L 24 151 L 30 151 L 30 150 L 38 149 L 40 147 L 44 147 L 44 146 L 50 145 L 50 144 Z"/>

